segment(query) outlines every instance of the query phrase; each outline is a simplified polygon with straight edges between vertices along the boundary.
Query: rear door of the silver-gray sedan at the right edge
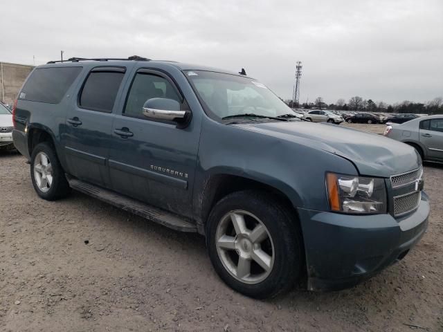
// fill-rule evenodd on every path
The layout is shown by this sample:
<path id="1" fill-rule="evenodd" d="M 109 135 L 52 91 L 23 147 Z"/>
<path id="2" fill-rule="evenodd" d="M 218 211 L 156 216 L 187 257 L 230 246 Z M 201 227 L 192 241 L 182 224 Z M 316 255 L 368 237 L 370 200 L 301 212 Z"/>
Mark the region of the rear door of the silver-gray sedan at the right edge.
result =
<path id="1" fill-rule="evenodd" d="M 443 160 L 443 117 L 420 122 L 419 134 L 428 158 Z"/>

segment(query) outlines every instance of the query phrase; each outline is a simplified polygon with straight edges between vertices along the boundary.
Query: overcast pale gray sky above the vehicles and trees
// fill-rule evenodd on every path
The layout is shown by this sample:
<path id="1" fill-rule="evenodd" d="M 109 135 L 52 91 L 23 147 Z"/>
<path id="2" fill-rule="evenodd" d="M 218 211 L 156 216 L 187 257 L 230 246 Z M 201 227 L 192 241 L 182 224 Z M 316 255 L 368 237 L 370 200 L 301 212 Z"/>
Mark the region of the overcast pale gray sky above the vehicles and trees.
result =
<path id="1" fill-rule="evenodd" d="M 3 1 L 0 62 L 169 59 L 239 71 L 300 102 L 443 95 L 443 0 Z M 7 13 L 7 15 L 5 15 Z"/>

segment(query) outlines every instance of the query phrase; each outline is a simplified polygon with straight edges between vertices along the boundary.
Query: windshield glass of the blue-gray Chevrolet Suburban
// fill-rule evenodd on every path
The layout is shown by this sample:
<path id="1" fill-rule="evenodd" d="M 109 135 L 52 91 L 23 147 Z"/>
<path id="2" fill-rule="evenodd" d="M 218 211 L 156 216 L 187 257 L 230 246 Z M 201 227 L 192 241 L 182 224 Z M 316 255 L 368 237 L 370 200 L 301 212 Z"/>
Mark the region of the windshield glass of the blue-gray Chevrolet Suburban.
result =
<path id="1" fill-rule="evenodd" d="M 295 116 L 280 98 L 251 78 L 211 71 L 187 71 L 186 75 L 210 115 L 219 120 L 241 114 Z"/>

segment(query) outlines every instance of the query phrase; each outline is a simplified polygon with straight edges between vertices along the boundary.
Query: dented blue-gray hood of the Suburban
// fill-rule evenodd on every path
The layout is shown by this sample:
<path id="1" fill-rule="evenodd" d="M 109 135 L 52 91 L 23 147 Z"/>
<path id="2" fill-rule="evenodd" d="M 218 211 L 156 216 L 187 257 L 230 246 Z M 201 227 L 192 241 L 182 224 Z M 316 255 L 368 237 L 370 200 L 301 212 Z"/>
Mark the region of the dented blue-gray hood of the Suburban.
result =
<path id="1" fill-rule="evenodd" d="M 288 121 L 234 125 L 342 156 L 354 163 L 361 175 L 389 177 L 420 165 L 419 156 L 409 145 L 336 124 Z"/>

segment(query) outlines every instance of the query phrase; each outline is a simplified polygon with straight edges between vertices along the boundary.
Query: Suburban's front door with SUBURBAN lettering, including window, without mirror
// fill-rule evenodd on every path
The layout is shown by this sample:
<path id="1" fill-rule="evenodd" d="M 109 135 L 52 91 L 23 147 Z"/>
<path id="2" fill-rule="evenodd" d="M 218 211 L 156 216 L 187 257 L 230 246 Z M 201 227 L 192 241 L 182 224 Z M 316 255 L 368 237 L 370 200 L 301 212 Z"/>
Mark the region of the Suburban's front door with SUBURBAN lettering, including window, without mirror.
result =
<path id="1" fill-rule="evenodd" d="M 174 82 L 163 72 L 138 70 L 112 128 L 109 172 L 112 188 L 182 215 L 190 215 L 197 163 L 199 128 L 143 116 L 150 98 L 186 105 Z"/>

